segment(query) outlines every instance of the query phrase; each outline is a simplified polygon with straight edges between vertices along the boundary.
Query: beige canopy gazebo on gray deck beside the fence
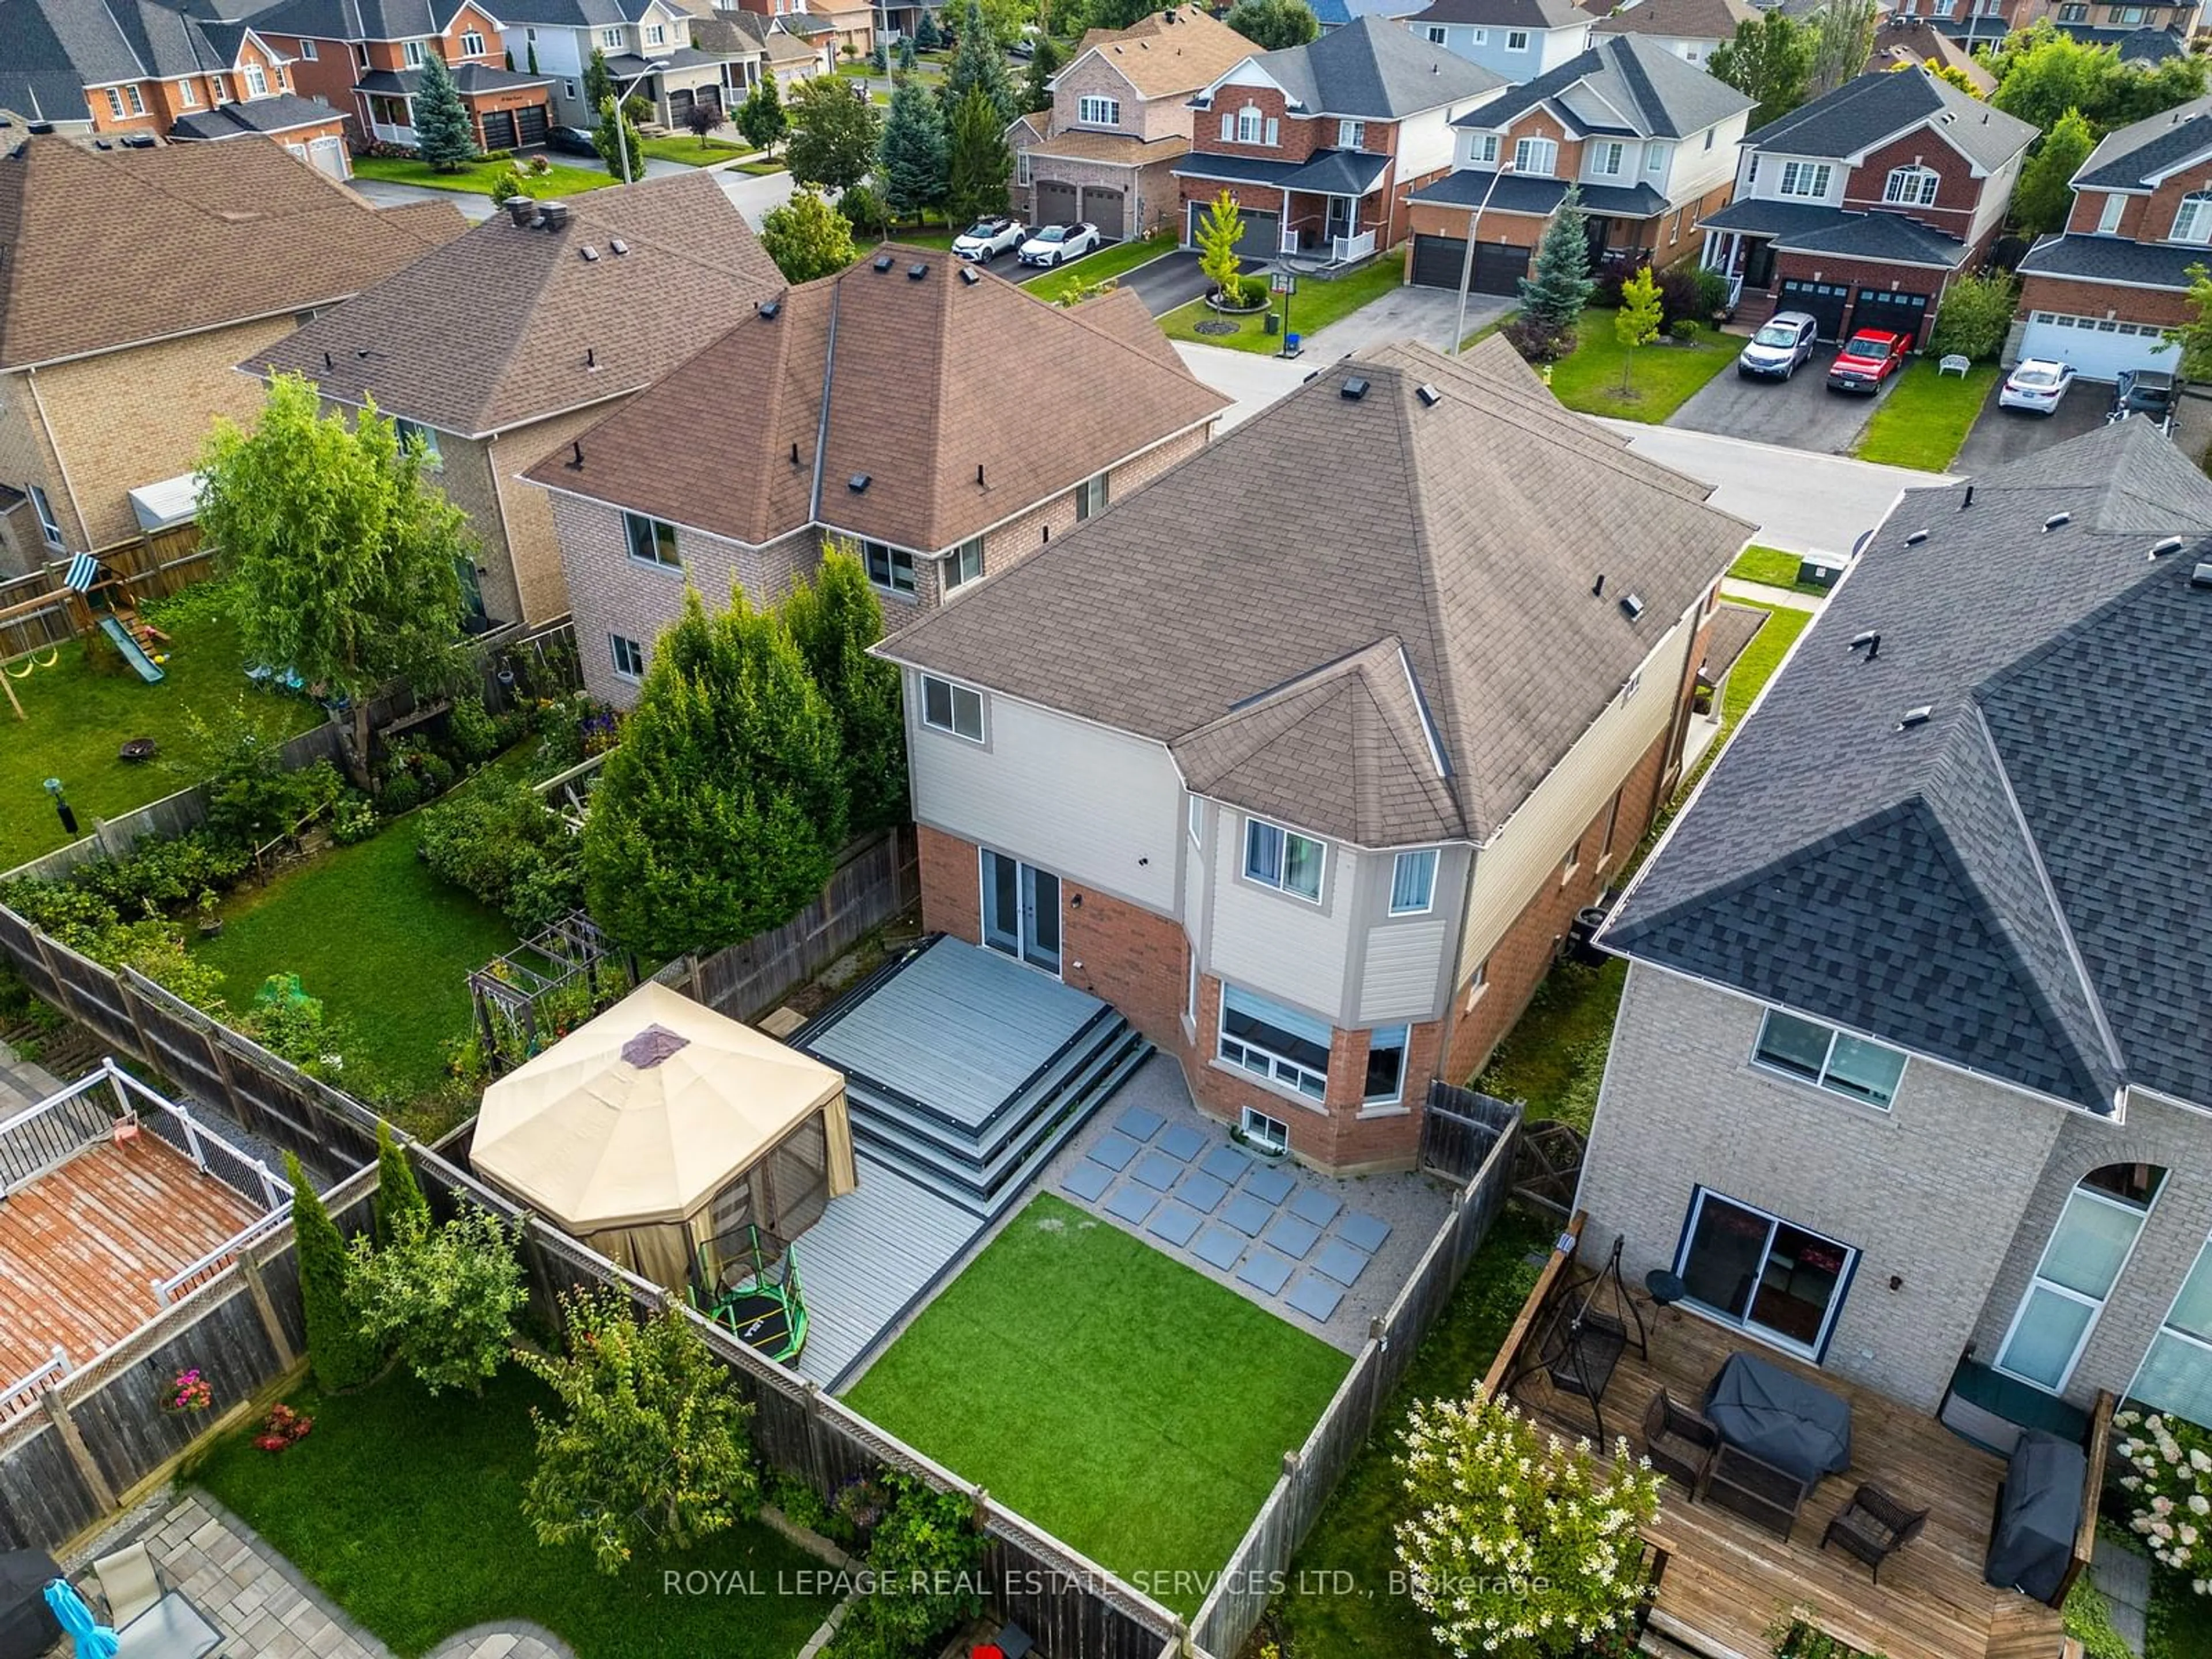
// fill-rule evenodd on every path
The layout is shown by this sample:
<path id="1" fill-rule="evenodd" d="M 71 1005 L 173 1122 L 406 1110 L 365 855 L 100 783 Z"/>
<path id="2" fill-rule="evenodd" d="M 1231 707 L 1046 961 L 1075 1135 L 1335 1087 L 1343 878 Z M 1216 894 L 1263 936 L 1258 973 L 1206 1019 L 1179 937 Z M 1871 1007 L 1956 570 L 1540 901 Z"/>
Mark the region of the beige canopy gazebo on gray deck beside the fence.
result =
<path id="1" fill-rule="evenodd" d="M 845 1077 L 653 980 L 491 1084 L 469 1161 L 675 1292 L 854 1188 Z"/>

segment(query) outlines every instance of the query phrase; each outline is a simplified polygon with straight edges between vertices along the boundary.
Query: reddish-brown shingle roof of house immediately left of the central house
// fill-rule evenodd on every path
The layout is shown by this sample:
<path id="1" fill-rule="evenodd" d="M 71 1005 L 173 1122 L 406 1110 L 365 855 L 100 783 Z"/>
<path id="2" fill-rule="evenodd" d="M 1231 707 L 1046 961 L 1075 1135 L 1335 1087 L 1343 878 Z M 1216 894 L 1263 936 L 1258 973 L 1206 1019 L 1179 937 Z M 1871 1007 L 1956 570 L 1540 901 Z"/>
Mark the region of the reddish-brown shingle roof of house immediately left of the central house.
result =
<path id="1" fill-rule="evenodd" d="M 883 257 L 790 290 L 586 431 L 582 467 L 562 451 L 529 478 L 754 546 L 818 520 L 936 553 L 1225 403 L 1150 319 L 1135 341 L 1135 294 L 1057 310 L 940 252 Z M 743 418 L 701 429 L 734 387 Z"/>

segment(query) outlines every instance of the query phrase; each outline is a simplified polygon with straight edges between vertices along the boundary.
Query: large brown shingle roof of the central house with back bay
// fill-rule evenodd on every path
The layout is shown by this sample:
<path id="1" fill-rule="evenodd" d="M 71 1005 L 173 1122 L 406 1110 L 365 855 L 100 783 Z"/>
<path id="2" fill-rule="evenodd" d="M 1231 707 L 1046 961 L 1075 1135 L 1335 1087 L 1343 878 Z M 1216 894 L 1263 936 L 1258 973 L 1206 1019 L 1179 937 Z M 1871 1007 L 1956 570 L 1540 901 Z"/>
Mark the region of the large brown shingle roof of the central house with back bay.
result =
<path id="1" fill-rule="evenodd" d="M 1194 787 L 1305 830 L 1484 841 L 1743 546 L 1705 495 L 1502 341 L 1391 345 L 883 650 L 1164 741 Z"/>

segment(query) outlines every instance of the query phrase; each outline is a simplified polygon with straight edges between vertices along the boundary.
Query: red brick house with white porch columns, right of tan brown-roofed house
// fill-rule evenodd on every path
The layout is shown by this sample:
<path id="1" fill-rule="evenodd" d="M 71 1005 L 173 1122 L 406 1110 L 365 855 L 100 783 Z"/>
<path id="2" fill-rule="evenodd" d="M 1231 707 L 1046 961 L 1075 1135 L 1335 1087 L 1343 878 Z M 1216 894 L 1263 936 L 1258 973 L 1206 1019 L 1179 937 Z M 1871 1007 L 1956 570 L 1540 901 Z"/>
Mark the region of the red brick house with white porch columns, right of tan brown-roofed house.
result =
<path id="1" fill-rule="evenodd" d="M 1179 237 L 1223 190 L 1248 259 L 1356 263 L 1407 234 L 1405 197 L 1451 170 L 1451 122 L 1506 84 L 1498 71 L 1356 18 L 1305 46 L 1248 58 L 1192 100 Z"/>

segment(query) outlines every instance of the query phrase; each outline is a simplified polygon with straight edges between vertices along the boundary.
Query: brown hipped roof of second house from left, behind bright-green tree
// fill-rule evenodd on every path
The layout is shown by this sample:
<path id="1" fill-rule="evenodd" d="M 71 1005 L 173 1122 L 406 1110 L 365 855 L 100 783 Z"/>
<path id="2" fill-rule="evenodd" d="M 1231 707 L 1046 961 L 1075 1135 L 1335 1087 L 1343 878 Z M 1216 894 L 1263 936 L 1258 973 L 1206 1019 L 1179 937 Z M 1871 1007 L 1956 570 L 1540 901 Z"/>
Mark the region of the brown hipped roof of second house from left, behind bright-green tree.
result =
<path id="1" fill-rule="evenodd" d="M 688 173 L 573 197 L 560 230 L 493 215 L 241 367 L 487 434 L 650 385 L 779 288 L 730 197 Z"/>

